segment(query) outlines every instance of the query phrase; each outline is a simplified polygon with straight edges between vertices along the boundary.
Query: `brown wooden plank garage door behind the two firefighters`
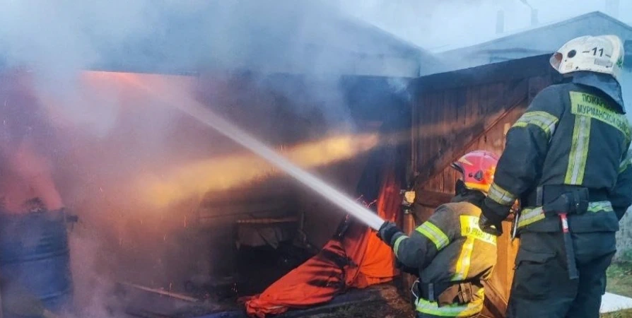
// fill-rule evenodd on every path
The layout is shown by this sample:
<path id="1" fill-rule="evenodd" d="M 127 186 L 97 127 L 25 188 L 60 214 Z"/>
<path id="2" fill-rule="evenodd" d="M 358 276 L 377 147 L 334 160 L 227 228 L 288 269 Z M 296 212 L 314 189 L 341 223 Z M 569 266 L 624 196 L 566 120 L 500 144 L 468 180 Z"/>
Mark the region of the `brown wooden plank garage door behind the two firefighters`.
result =
<path id="1" fill-rule="evenodd" d="M 450 200 L 458 178 L 450 163 L 477 149 L 500 155 L 509 127 L 540 90 L 559 79 L 548 55 L 419 78 L 411 106 L 415 225 L 405 230 L 413 230 L 436 206 Z M 503 228 L 492 279 L 508 297 L 518 242 L 509 239 L 510 222 L 505 221 Z"/>

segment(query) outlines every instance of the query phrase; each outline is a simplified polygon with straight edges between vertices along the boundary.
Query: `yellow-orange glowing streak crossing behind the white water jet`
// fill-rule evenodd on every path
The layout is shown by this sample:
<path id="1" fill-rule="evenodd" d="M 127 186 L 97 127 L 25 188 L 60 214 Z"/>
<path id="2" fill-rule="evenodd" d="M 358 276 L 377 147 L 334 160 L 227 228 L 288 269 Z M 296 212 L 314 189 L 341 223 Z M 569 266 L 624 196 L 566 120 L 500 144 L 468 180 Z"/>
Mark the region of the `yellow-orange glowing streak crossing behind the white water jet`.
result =
<path id="1" fill-rule="evenodd" d="M 377 134 L 332 136 L 293 146 L 283 154 L 300 167 L 320 167 L 353 158 L 377 144 Z M 279 174 L 281 171 L 266 160 L 244 153 L 179 165 L 161 176 L 144 175 L 135 184 L 136 189 L 141 189 L 142 199 L 156 208 L 164 208 L 207 192 L 227 190 Z"/>

